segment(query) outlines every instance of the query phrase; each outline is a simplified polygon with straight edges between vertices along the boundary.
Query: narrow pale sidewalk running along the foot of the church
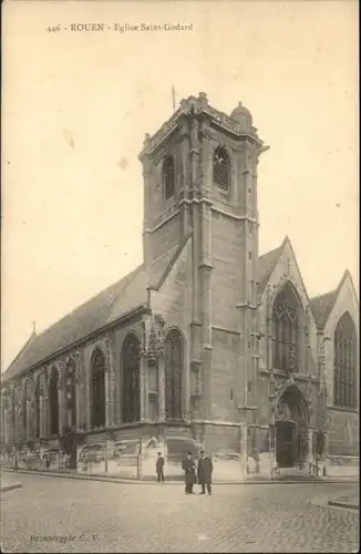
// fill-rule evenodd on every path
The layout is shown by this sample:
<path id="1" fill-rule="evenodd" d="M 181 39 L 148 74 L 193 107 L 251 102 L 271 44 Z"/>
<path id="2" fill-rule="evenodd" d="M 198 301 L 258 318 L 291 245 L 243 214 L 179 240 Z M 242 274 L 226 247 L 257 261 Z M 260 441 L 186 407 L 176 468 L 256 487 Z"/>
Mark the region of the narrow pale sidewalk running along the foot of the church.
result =
<path id="1" fill-rule="evenodd" d="M 52 478 L 64 478 L 64 479 L 80 479 L 84 481 L 104 481 L 109 483 L 126 483 L 126 484 L 156 484 L 157 481 L 155 480 L 149 480 L 149 479 L 142 479 L 142 480 L 136 480 L 136 479 L 126 479 L 126 478 L 116 478 L 116 476 L 107 476 L 107 475 L 85 475 L 78 473 L 76 471 L 38 471 L 38 470 L 13 470 L 11 468 L 4 468 L 4 472 L 9 473 L 27 473 L 27 474 L 33 474 L 33 475 L 44 475 L 44 476 L 52 476 Z M 239 484 L 239 485 L 247 485 L 247 484 L 310 484 L 310 483 L 358 483 L 358 479 L 355 478 L 339 478 L 339 479 L 317 479 L 317 478 L 311 478 L 311 479 L 265 479 L 260 476 L 249 476 L 246 481 L 217 481 L 214 480 L 213 484 L 218 485 L 218 484 Z M 184 485 L 183 479 L 179 480 L 166 480 L 164 485 Z"/>

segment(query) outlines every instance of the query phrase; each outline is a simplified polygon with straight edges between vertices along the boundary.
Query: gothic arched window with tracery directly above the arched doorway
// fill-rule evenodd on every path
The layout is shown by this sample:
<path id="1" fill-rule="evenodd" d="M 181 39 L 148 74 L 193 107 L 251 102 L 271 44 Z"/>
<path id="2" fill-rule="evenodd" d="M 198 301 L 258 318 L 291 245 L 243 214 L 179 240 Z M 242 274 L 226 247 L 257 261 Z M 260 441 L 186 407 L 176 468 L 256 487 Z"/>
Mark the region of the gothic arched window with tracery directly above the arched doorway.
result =
<path id="1" fill-rule="evenodd" d="M 272 309 L 274 368 L 297 371 L 299 361 L 299 301 L 291 285 L 277 295 Z"/>

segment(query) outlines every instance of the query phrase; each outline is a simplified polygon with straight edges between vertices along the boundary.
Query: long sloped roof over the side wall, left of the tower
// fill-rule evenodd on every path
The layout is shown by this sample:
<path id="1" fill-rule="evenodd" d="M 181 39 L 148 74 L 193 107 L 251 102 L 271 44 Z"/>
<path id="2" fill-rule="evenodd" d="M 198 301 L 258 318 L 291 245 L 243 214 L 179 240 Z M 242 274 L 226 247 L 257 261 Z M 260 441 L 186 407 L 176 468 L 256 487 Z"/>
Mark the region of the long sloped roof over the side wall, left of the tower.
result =
<path id="1" fill-rule="evenodd" d="M 111 285 L 78 307 L 40 335 L 34 335 L 20 350 L 2 381 L 42 362 L 56 352 L 115 321 L 132 309 L 147 302 L 147 288 L 159 287 L 178 257 L 183 245 L 175 246 L 147 267 L 142 264 L 134 271 Z"/>

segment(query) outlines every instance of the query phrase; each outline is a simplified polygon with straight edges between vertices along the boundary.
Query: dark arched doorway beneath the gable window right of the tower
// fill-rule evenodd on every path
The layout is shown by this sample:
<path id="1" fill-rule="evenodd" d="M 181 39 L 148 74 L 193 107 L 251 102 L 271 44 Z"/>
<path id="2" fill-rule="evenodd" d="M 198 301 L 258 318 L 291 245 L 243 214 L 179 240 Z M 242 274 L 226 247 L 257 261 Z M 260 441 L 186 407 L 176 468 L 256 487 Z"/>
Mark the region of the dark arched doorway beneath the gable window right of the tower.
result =
<path id="1" fill-rule="evenodd" d="M 301 468 L 308 454 L 309 409 L 298 387 L 290 386 L 281 393 L 275 424 L 277 465 Z"/>

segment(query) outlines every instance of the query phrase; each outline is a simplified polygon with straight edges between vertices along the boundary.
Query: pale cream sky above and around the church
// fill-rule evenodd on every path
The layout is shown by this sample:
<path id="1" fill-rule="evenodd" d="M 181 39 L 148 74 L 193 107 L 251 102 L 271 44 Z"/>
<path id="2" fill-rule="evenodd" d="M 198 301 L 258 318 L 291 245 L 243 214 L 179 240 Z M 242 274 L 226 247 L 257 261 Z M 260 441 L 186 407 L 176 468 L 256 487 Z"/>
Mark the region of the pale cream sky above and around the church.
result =
<path id="1" fill-rule="evenodd" d="M 176 100 L 241 101 L 260 254 L 288 235 L 310 296 L 359 287 L 358 2 L 12 2 L 3 8 L 3 371 L 29 338 L 142 263 L 137 155 Z M 110 31 L 59 31 L 72 23 Z M 192 31 L 114 31 L 115 23 Z"/>

